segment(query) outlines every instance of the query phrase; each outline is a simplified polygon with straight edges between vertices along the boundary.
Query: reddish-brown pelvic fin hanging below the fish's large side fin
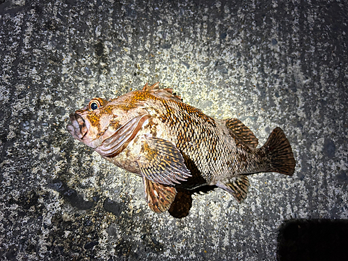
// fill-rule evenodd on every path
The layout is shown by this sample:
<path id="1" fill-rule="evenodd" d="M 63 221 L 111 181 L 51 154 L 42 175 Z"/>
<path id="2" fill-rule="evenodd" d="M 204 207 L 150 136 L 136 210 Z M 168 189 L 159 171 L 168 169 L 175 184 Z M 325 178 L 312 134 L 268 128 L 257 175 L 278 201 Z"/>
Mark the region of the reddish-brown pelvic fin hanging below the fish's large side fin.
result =
<path id="1" fill-rule="evenodd" d="M 171 207 L 176 195 L 175 187 L 168 187 L 148 180 L 143 176 L 145 197 L 150 209 L 156 213 L 165 212 Z"/>

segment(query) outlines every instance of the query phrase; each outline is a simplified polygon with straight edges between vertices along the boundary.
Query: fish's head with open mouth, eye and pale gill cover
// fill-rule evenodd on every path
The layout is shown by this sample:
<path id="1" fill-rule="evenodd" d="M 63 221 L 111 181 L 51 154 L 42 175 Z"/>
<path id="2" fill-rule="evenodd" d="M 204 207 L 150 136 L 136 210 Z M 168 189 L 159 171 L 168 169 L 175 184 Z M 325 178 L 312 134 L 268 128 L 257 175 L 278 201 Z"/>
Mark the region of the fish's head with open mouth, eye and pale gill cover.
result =
<path id="1" fill-rule="evenodd" d="M 150 117 L 142 106 L 125 106 L 125 97 L 90 100 L 87 106 L 70 114 L 67 130 L 100 155 L 114 157 L 134 139 Z"/>

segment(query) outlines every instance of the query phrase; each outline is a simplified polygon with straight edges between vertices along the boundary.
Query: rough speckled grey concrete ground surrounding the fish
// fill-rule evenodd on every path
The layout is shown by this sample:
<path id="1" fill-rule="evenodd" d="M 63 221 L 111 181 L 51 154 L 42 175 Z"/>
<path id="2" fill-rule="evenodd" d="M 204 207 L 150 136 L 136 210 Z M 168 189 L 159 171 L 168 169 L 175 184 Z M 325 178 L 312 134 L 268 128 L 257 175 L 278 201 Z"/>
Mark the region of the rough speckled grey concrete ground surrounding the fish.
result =
<path id="1" fill-rule="evenodd" d="M 0 259 L 276 260 L 292 219 L 347 219 L 344 1 L 0 0 Z M 91 97 L 146 82 L 263 144 L 292 143 L 293 177 L 251 177 L 189 215 L 155 214 L 139 177 L 74 141 Z"/>

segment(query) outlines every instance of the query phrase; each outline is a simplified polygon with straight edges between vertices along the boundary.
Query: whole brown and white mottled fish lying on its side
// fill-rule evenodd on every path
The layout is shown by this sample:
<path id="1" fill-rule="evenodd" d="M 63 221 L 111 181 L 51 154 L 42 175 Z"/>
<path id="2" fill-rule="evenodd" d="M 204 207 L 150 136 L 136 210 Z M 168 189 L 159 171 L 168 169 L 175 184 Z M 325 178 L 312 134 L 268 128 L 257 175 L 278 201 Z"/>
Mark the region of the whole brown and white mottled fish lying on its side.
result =
<path id="1" fill-rule="evenodd" d="M 177 189 L 219 187 L 242 203 L 248 175 L 293 175 L 291 145 L 280 127 L 258 147 L 237 118 L 215 119 L 159 83 L 113 100 L 95 97 L 70 114 L 70 134 L 112 164 L 143 179 L 152 211 L 166 212 Z"/>

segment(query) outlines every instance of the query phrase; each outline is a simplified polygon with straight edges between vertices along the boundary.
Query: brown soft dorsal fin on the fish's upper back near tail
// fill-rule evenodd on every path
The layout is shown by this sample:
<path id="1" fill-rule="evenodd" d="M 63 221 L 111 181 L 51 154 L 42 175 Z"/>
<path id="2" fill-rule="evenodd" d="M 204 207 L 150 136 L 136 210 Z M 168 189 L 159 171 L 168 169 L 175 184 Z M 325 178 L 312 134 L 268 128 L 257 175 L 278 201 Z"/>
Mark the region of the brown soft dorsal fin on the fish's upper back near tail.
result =
<path id="1" fill-rule="evenodd" d="M 258 139 L 255 137 L 253 132 L 246 127 L 240 120 L 238 119 L 228 119 L 226 120 L 226 127 L 230 129 L 230 131 L 237 136 L 240 140 L 242 140 L 246 145 L 251 148 L 258 147 Z"/>

